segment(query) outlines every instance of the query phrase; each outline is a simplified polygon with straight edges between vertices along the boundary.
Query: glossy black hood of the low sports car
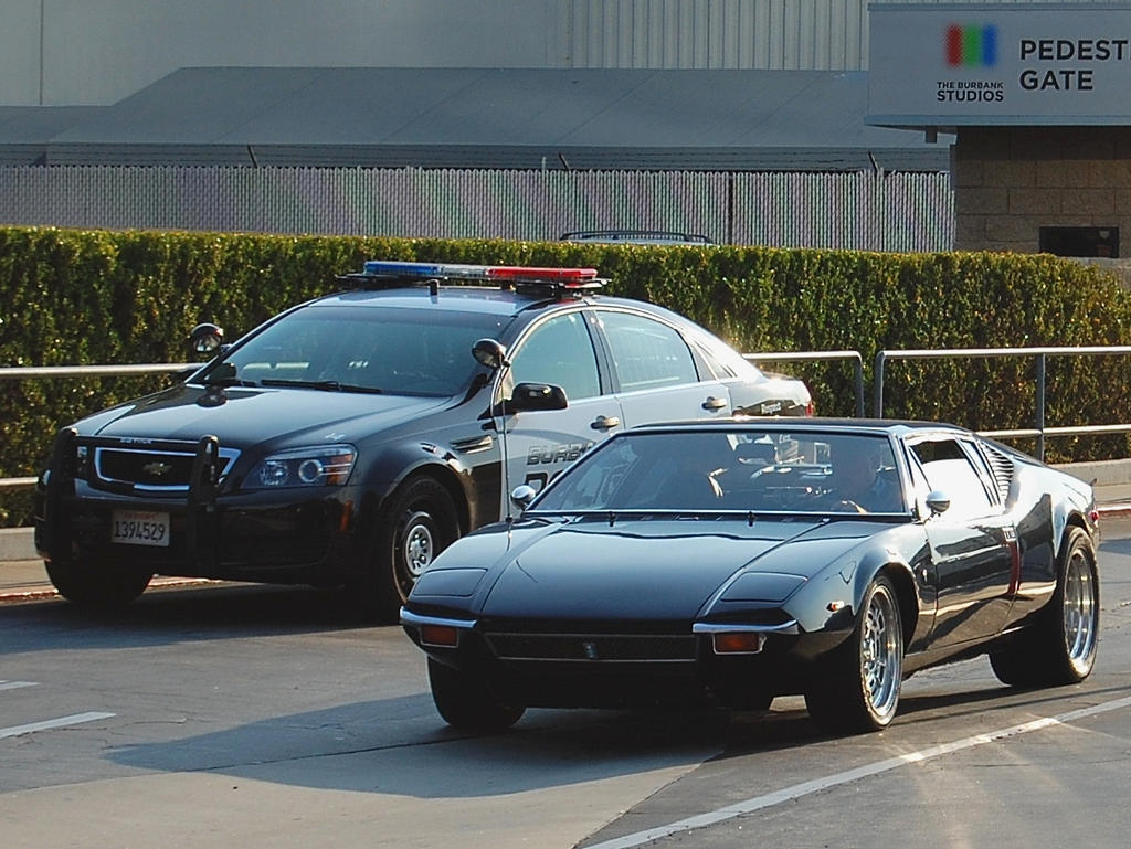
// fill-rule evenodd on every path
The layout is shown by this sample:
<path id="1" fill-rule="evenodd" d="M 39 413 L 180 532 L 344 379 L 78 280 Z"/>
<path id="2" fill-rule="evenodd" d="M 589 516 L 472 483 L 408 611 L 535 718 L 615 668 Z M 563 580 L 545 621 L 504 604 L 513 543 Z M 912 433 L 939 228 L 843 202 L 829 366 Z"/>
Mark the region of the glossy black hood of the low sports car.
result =
<path id="1" fill-rule="evenodd" d="M 839 529 L 821 521 L 751 526 L 744 519 L 653 519 L 618 521 L 612 528 L 605 521 L 589 521 L 520 530 L 495 563 L 493 584 L 487 578 L 490 592 L 481 597 L 478 613 L 521 618 L 690 620 L 739 572 L 797 575 L 794 583 L 800 587 L 867 532 L 853 522 L 834 525 Z"/>

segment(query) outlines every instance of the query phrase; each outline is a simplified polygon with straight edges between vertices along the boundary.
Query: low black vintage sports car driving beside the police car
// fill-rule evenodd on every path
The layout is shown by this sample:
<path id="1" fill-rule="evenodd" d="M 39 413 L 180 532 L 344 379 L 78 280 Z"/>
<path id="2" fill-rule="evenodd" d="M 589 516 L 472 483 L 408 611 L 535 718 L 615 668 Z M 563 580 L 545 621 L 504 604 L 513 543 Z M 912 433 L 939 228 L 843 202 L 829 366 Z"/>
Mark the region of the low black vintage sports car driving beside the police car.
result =
<path id="1" fill-rule="evenodd" d="M 1095 662 L 1091 487 L 950 425 L 640 427 L 515 499 L 402 609 L 454 726 L 802 693 L 822 726 L 866 731 L 927 666 L 988 653 L 1036 686 Z"/>

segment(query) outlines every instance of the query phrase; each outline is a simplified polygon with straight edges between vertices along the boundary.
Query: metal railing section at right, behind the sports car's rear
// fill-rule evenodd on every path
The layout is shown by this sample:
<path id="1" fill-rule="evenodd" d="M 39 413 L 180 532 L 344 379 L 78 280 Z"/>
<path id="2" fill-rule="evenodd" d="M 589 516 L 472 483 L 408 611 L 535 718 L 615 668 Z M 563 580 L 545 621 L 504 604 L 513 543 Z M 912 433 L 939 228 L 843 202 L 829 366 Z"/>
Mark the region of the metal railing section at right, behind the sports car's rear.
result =
<path id="1" fill-rule="evenodd" d="M 1068 427 L 1048 427 L 1045 425 L 1045 395 L 1046 395 L 1046 367 L 1051 356 L 1102 356 L 1102 355 L 1126 355 L 1131 354 L 1131 346 L 1128 345 L 1103 345 L 1087 347 L 1034 347 L 1034 348 L 940 348 L 924 350 L 881 350 L 875 355 L 874 378 L 874 415 L 877 418 L 883 417 L 883 380 L 884 366 L 892 359 L 957 359 L 969 357 L 974 359 L 990 359 L 998 357 L 1035 357 L 1037 361 L 1036 374 L 1036 400 L 1034 410 L 1034 426 L 1020 427 L 1008 431 L 979 431 L 983 436 L 996 439 L 1022 439 L 1036 438 L 1037 459 L 1045 458 L 1046 436 L 1083 436 L 1098 435 L 1105 433 L 1131 433 L 1131 424 L 1107 424 L 1107 425 L 1073 425 Z"/>

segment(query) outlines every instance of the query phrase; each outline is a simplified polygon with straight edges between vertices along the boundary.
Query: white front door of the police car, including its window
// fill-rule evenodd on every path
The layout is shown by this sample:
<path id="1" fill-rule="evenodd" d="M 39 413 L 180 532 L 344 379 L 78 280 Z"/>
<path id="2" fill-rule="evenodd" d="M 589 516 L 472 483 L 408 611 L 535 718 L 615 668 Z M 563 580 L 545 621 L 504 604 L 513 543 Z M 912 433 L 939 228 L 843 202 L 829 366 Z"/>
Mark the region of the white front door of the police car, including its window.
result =
<path id="1" fill-rule="evenodd" d="M 556 313 L 533 324 L 512 346 L 510 369 L 497 397 L 509 398 L 518 383 L 550 383 L 566 390 L 568 406 L 504 417 L 508 462 L 502 516 L 516 486 L 541 490 L 623 426 L 620 401 L 607 390 L 597 365 L 589 323 L 584 310 Z"/>

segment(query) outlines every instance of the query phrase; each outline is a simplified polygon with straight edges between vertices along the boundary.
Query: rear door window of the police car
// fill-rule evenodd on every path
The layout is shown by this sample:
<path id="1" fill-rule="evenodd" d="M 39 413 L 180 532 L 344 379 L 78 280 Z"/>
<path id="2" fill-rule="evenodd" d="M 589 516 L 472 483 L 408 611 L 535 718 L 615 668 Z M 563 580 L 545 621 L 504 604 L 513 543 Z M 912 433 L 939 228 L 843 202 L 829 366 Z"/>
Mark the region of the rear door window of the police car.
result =
<path id="1" fill-rule="evenodd" d="M 699 381 L 691 349 L 667 324 L 627 312 L 601 311 L 599 317 L 622 391 Z"/>

